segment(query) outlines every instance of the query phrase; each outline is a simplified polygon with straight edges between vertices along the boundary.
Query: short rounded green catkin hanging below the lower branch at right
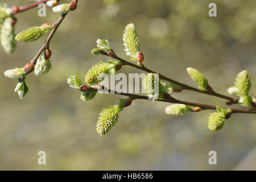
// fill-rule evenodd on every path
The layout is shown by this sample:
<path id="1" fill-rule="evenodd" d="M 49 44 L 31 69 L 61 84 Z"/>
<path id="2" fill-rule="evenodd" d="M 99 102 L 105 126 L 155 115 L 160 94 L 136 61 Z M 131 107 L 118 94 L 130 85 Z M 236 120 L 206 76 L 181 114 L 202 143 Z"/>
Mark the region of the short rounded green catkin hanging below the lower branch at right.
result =
<path id="1" fill-rule="evenodd" d="M 208 118 L 208 128 L 212 131 L 222 129 L 225 124 L 225 115 L 223 113 L 212 113 Z"/>

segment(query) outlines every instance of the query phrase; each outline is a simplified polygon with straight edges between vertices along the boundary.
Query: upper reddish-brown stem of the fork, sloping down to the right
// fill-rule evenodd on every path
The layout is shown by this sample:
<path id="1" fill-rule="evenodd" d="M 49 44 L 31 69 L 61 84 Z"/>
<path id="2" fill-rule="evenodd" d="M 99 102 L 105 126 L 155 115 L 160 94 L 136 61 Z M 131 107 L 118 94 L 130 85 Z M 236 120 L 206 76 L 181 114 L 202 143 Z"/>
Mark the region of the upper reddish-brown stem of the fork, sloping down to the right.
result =
<path id="1" fill-rule="evenodd" d="M 106 54 L 104 53 L 104 55 L 109 56 L 107 53 L 106 53 Z M 124 59 L 118 57 L 118 56 L 114 56 L 113 58 L 114 58 L 114 59 L 117 59 L 117 60 L 119 60 L 119 61 L 121 61 L 121 63 L 122 63 L 123 65 L 129 65 L 129 66 L 131 66 L 131 67 L 134 67 L 134 68 L 137 68 L 137 69 L 141 69 L 142 71 L 148 72 L 148 73 L 156 73 L 156 72 L 154 72 L 154 71 L 152 71 L 152 70 L 150 70 L 150 69 L 144 67 L 143 64 L 142 64 L 141 66 L 139 66 L 139 65 L 130 63 L 130 62 L 128 62 L 128 61 L 126 61 L 126 60 L 124 60 Z M 161 75 L 160 73 L 159 73 L 159 78 L 162 79 L 162 80 L 166 80 L 166 81 L 172 82 L 173 84 L 179 85 L 179 86 L 181 86 L 181 88 L 183 88 L 183 89 L 185 89 L 185 90 L 192 90 L 192 91 L 194 91 L 194 92 L 199 92 L 199 93 L 203 93 L 203 94 L 208 94 L 208 95 L 210 95 L 210 96 L 215 96 L 215 97 L 219 97 L 219 98 L 224 98 L 225 100 L 230 101 L 229 104 L 237 104 L 237 103 L 238 103 L 238 99 L 237 99 L 237 98 L 224 96 L 224 95 L 222 95 L 222 94 L 220 94 L 220 93 L 217 93 L 217 92 L 214 92 L 214 91 L 209 92 L 209 91 L 197 89 L 197 88 L 194 88 L 194 87 L 192 87 L 192 86 L 185 85 L 185 84 L 182 84 L 182 83 L 177 82 L 177 81 L 175 81 L 175 80 L 172 80 L 171 78 L 168 78 L 168 77 L 166 77 L 166 76 L 163 76 L 163 75 Z"/>

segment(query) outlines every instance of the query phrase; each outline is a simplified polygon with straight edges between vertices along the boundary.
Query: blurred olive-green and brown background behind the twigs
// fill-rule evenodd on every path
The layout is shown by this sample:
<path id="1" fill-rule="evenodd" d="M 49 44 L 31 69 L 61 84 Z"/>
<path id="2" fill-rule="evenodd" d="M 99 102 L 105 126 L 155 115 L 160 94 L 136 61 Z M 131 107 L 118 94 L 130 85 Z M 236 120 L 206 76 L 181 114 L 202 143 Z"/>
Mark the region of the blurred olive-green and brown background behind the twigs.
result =
<path id="1" fill-rule="evenodd" d="M 60 3 L 69 2 L 61 0 Z M 0 169 L 2 170 L 233 170 L 256 169 L 256 115 L 233 115 L 221 131 L 207 127 L 213 111 L 183 117 L 165 114 L 168 104 L 134 101 L 119 115 L 118 124 L 104 137 L 96 122 L 117 95 L 98 94 L 83 102 L 67 84 L 76 74 L 84 78 L 105 56 L 91 55 L 96 40 L 108 39 L 117 55 L 129 60 L 122 45 L 126 24 L 138 30 L 144 65 L 174 80 L 196 86 L 186 68 L 199 69 L 214 90 L 228 95 L 237 73 L 247 69 L 256 90 L 256 1 L 215 0 L 217 18 L 208 16 L 205 0 L 80 0 L 52 39 L 53 69 L 46 76 L 26 78 L 30 92 L 23 100 L 14 93 L 16 80 L 0 76 Z M 8 6 L 27 0 L 7 1 Z M 17 15 L 16 31 L 53 23 L 59 18 L 47 7 Z M 0 72 L 23 67 L 34 57 L 47 35 L 35 43 L 18 43 L 13 55 L 0 48 Z M 123 67 L 123 73 L 141 73 Z M 225 106 L 225 100 L 184 91 L 172 96 Z M 236 105 L 235 107 L 241 107 Z M 47 165 L 38 164 L 46 151 Z M 209 151 L 217 165 L 209 165 Z"/>

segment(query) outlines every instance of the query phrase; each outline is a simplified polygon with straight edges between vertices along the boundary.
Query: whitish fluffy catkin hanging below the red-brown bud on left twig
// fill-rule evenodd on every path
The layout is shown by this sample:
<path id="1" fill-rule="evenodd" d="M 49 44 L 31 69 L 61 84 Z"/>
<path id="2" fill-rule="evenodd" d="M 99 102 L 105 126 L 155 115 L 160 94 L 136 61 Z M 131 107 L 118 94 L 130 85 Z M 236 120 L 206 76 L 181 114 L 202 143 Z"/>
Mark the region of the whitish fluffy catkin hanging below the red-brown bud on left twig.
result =
<path id="1" fill-rule="evenodd" d="M 42 53 L 39 57 L 38 60 L 36 61 L 35 65 L 35 75 L 36 76 L 42 76 L 46 75 L 49 71 L 52 69 L 52 63 L 51 60 L 45 59 L 44 58 L 44 53 Z M 80 86 L 80 85 L 79 85 Z"/>

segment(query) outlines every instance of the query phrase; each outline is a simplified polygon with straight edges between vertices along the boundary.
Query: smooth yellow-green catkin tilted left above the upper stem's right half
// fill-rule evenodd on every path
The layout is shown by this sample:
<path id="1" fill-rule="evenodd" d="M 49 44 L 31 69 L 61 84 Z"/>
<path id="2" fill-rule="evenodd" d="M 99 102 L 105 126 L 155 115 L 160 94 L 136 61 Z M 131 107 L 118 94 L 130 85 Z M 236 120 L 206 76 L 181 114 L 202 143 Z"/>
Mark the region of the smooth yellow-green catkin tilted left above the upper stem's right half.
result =
<path id="1" fill-rule="evenodd" d="M 198 87 L 200 89 L 203 89 L 203 90 L 212 90 L 210 89 L 208 86 L 208 80 L 207 78 L 204 77 L 204 75 L 202 73 L 200 73 L 199 71 L 197 71 L 196 69 L 194 68 L 187 68 L 187 72 L 188 72 L 188 75 L 192 78 L 192 80 L 194 80 L 195 82 L 197 82 L 198 84 Z M 208 90 L 208 91 L 209 91 Z"/>

